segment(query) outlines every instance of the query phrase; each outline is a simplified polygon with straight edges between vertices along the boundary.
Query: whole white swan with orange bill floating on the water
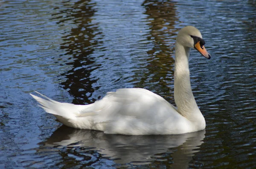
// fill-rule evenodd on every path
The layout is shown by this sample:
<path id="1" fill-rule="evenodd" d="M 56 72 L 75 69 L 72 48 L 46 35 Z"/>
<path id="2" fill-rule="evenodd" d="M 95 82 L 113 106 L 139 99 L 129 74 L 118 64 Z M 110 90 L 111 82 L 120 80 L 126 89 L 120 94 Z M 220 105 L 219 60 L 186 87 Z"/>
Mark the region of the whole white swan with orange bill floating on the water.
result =
<path id="1" fill-rule="evenodd" d="M 205 128 L 205 120 L 193 96 L 189 78 L 189 52 L 195 48 L 210 59 L 197 28 L 180 30 L 175 44 L 174 99 L 177 108 L 157 94 L 141 88 L 109 92 L 88 105 L 36 99 L 47 113 L 63 124 L 78 129 L 100 130 L 111 134 L 153 135 L 181 134 Z"/>

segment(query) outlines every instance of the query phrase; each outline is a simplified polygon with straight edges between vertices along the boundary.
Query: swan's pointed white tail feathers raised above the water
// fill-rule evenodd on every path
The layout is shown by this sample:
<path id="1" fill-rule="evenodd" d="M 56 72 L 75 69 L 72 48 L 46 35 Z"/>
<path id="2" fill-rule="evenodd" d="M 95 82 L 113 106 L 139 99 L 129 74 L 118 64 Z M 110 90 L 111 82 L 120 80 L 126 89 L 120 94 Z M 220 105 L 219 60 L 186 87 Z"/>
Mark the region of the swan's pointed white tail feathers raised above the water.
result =
<path id="1" fill-rule="evenodd" d="M 51 113 L 53 115 L 61 116 L 66 119 L 73 119 L 81 116 L 81 110 L 86 109 L 88 105 L 75 105 L 70 103 L 61 103 L 58 101 L 54 101 L 49 99 L 47 96 L 35 91 L 43 98 L 30 94 L 36 101 L 38 101 L 38 106 L 42 107 L 47 113 Z M 82 113 L 84 114 L 84 113 Z M 90 113 L 88 113 L 90 115 Z M 83 115 L 86 116 L 86 115 Z"/>

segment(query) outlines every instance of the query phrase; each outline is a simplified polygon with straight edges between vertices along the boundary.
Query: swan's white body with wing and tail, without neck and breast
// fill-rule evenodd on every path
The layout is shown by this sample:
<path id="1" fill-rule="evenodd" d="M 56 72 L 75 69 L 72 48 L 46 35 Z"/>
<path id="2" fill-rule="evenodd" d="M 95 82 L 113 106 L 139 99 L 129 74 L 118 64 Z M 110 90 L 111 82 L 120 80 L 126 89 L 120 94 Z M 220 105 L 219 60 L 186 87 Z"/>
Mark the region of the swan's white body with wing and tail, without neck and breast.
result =
<path id="1" fill-rule="evenodd" d="M 69 127 L 125 135 L 175 134 L 188 128 L 176 107 L 146 89 L 119 89 L 88 105 L 60 103 L 40 95 L 45 99 L 32 96 Z"/>

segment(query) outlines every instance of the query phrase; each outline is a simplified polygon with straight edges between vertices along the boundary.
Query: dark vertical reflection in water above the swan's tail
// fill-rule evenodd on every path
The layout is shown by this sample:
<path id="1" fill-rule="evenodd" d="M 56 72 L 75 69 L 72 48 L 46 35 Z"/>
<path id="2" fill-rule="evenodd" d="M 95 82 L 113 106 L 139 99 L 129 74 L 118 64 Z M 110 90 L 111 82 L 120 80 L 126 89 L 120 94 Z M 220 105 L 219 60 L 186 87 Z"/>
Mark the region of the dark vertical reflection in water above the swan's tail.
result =
<path id="1" fill-rule="evenodd" d="M 61 85 L 64 89 L 69 89 L 68 92 L 76 98 L 73 104 L 91 103 L 87 98 L 96 89 L 92 87 L 92 84 L 97 79 L 90 79 L 90 73 L 100 65 L 93 65 L 94 58 L 89 57 L 94 51 L 92 46 L 98 44 L 94 37 L 100 34 L 96 32 L 97 25 L 91 24 L 96 12 L 93 8 L 95 5 L 96 3 L 80 0 L 72 7 L 60 11 L 66 14 L 66 17 L 60 20 L 59 24 L 67 24 L 66 18 L 70 18 L 73 20 L 72 24 L 76 25 L 76 28 L 72 28 L 67 36 L 62 37 L 65 42 L 61 44 L 61 49 L 67 51 L 66 55 L 73 56 L 73 61 L 67 63 L 67 65 L 73 65 L 73 68 L 61 74 L 67 78 L 65 82 L 61 82 Z"/>

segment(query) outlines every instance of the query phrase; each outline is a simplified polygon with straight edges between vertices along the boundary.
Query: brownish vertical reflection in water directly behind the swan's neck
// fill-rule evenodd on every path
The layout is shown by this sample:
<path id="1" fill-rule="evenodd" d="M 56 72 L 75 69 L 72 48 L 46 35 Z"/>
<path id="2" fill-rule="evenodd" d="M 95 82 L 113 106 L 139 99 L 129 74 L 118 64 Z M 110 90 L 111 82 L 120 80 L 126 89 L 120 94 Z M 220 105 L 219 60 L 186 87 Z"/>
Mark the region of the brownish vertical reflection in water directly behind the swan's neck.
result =
<path id="1" fill-rule="evenodd" d="M 147 52 L 150 59 L 147 60 L 148 65 L 145 68 L 148 72 L 141 78 L 137 87 L 143 88 L 145 84 L 153 83 L 154 87 L 148 88 L 149 90 L 161 96 L 173 98 L 174 58 L 172 56 L 175 54 L 177 32 L 174 24 L 178 20 L 175 14 L 175 3 L 145 0 L 143 6 L 151 29 L 148 40 L 154 40 L 152 42 L 154 47 Z"/>

